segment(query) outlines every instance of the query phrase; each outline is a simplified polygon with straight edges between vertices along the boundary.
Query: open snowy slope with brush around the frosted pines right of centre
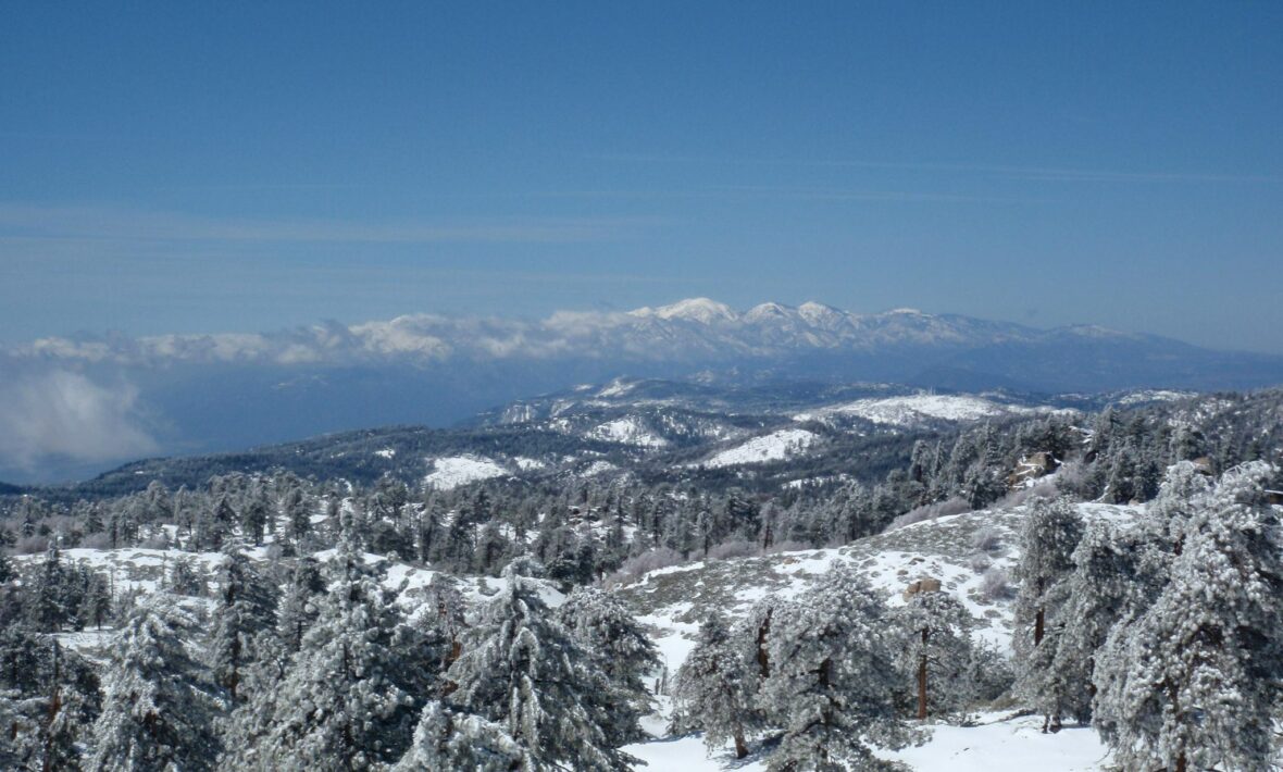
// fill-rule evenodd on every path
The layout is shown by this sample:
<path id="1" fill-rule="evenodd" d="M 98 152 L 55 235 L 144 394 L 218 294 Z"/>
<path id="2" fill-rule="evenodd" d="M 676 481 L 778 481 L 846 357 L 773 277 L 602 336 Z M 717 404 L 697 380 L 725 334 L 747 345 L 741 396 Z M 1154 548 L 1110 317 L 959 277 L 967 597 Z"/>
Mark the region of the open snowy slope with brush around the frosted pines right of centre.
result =
<path id="1" fill-rule="evenodd" d="M 1079 504 L 1088 519 L 1130 522 L 1139 507 Z M 758 558 L 701 562 L 653 571 L 621 587 L 639 619 L 652 628 L 665 669 L 671 676 L 694 648 L 694 636 L 706 610 L 730 616 L 744 613 L 754 601 L 774 594 L 781 599 L 801 594 L 835 563 L 852 563 L 884 592 L 889 605 L 905 603 L 905 587 L 919 578 L 938 578 L 943 591 L 958 598 L 979 621 L 976 636 L 1010 655 L 1010 598 L 989 598 L 983 591 L 985 571 L 1010 572 L 1019 560 L 1017 531 L 1026 507 L 969 512 L 906 526 L 833 549 L 779 553 Z M 979 550 L 978 531 L 997 533 L 997 545 Z M 667 708 L 667 703 L 662 701 Z M 652 727 L 665 726 L 665 716 Z M 1041 717 L 981 716 L 976 726 L 938 725 L 921 746 L 884 751 L 884 758 L 913 769 L 964 772 L 1080 772 L 1106 769 L 1107 754 L 1097 734 L 1070 727 L 1058 735 L 1041 732 Z M 626 749 L 650 769 L 680 772 L 765 771 L 763 754 L 744 762 L 730 746 L 708 754 L 701 736 L 657 737 Z"/>

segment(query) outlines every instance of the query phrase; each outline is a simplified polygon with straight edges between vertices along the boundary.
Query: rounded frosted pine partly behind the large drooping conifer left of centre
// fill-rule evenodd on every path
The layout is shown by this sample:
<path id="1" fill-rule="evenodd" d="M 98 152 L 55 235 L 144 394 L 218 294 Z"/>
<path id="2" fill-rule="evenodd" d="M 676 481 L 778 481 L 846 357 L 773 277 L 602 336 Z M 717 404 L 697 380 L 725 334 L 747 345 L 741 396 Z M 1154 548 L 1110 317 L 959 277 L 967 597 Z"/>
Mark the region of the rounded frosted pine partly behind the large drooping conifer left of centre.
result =
<path id="1" fill-rule="evenodd" d="M 633 614 L 615 595 L 595 587 L 580 587 L 557 609 L 557 618 L 594 657 L 613 694 L 606 699 L 615 721 L 607 725 L 611 745 L 645 737 L 640 718 L 654 708 L 643 680 L 659 669 L 659 653 Z"/>

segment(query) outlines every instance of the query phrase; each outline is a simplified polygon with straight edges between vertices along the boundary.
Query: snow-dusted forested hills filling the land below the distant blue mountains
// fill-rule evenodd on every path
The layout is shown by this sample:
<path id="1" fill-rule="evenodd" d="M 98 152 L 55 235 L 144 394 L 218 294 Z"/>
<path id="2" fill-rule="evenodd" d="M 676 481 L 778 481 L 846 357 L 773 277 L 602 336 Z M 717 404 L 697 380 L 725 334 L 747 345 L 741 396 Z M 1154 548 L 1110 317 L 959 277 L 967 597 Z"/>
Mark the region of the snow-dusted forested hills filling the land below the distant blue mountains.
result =
<path id="1" fill-rule="evenodd" d="M 1273 763 L 1283 394 L 757 399 L 9 495 L 0 760 L 866 769 L 1033 712 L 1123 769 Z"/>

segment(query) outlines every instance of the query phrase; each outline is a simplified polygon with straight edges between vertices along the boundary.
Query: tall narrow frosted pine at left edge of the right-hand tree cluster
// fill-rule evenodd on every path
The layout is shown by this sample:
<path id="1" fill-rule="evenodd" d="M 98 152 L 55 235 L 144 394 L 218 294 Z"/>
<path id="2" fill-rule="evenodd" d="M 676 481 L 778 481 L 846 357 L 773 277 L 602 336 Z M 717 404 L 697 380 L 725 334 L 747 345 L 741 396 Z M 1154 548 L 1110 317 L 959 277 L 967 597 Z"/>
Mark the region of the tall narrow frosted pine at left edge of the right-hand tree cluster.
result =
<path id="1" fill-rule="evenodd" d="M 1044 730 L 1058 730 L 1061 716 L 1082 704 L 1065 692 L 1052 662 L 1066 625 L 1064 607 L 1073 554 L 1083 535 L 1083 518 L 1067 500 L 1039 499 L 1025 516 L 1020 530 L 1020 563 L 1016 575 L 1015 635 L 1017 691 L 1047 717 Z M 1076 689 L 1076 686 L 1075 686 Z"/>

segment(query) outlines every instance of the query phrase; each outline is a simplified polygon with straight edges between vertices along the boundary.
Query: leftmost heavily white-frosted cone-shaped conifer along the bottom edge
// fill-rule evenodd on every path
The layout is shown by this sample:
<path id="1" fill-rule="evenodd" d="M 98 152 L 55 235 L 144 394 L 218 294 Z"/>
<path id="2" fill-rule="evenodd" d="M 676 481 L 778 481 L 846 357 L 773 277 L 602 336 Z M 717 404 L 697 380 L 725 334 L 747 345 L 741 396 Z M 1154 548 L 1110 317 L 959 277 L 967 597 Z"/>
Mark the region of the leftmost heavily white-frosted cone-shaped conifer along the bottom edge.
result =
<path id="1" fill-rule="evenodd" d="M 194 625 L 164 594 L 135 605 L 109 648 L 91 769 L 214 768 L 222 700 L 183 644 Z"/>

